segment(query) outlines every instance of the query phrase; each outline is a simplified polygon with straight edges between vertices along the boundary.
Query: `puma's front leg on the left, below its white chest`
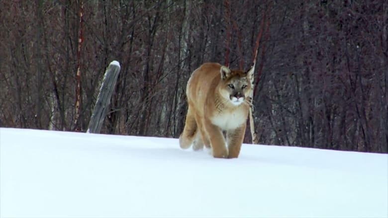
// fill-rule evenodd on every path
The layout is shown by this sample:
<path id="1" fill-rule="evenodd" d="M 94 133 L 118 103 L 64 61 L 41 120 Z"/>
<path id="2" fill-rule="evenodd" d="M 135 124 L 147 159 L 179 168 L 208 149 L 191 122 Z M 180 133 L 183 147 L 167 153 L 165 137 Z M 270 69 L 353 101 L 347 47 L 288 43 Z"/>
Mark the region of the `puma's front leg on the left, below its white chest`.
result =
<path id="1" fill-rule="evenodd" d="M 211 152 L 213 157 L 218 158 L 227 158 L 228 149 L 225 146 L 225 139 L 222 135 L 222 131 L 219 127 L 212 124 L 209 120 L 203 122 L 205 131 L 209 136 L 209 141 L 211 145 Z"/>

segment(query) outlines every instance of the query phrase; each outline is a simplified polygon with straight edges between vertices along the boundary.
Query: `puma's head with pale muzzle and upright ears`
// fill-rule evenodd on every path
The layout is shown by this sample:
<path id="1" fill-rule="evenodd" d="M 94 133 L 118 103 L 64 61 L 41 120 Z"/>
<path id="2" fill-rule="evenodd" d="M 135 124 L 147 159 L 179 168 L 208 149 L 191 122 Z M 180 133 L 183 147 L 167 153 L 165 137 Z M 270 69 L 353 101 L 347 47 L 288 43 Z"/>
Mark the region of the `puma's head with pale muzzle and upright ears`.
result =
<path id="1" fill-rule="evenodd" d="M 252 67 L 248 72 L 231 71 L 229 68 L 222 66 L 219 86 L 221 96 L 229 99 L 230 103 L 236 106 L 243 103 L 251 92 L 253 70 Z"/>

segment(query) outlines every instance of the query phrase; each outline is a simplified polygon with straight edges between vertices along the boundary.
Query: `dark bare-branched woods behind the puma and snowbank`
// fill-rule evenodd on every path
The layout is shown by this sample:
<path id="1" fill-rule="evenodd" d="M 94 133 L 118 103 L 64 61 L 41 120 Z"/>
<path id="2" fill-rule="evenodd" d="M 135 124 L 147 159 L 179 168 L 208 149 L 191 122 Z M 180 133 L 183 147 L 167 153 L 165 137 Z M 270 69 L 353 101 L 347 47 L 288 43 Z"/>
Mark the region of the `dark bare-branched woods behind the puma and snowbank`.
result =
<path id="1" fill-rule="evenodd" d="M 1 127 L 76 129 L 80 3 L 0 1 Z M 203 62 L 225 64 L 226 54 L 230 68 L 247 70 L 267 15 L 256 65 L 262 71 L 255 75 L 259 143 L 388 152 L 387 0 L 83 6 L 81 131 L 105 68 L 117 60 L 121 71 L 102 133 L 177 138 L 190 74 Z"/>

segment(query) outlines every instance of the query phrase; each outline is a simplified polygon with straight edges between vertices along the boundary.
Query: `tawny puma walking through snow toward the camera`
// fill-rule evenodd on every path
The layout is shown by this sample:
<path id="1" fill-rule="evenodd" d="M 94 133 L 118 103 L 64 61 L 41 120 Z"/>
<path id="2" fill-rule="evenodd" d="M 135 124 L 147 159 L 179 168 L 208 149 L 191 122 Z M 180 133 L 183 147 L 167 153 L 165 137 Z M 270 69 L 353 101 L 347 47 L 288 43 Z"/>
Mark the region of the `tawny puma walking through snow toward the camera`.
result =
<path id="1" fill-rule="evenodd" d="M 179 137 L 181 148 L 193 145 L 199 150 L 206 146 L 213 157 L 238 157 L 249 113 L 253 70 L 231 71 L 217 63 L 205 63 L 192 73 L 186 87 L 189 108 Z"/>

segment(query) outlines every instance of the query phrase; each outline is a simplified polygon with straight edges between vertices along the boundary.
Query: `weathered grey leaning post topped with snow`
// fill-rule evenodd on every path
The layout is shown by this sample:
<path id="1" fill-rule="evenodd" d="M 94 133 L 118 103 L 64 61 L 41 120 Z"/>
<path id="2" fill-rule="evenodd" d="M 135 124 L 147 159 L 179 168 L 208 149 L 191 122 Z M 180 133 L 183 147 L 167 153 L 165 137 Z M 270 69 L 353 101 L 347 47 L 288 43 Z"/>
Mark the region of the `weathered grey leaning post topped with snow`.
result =
<path id="1" fill-rule="evenodd" d="M 89 122 L 87 133 L 99 133 L 101 131 L 102 123 L 107 113 L 110 97 L 112 96 L 119 72 L 120 63 L 117 61 L 110 62 L 99 89 L 97 102 Z"/>

